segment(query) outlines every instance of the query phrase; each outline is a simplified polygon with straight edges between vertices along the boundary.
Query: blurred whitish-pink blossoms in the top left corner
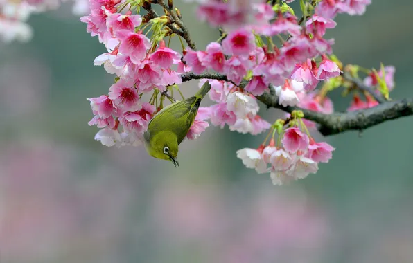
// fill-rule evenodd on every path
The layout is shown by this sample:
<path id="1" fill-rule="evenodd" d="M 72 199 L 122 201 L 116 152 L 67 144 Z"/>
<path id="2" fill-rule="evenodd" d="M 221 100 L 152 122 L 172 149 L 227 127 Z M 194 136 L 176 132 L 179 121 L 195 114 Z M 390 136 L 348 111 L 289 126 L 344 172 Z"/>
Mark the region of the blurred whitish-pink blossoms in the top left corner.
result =
<path id="1" fill-rule="evenodd" d="M 85 14 L 87 0 L 73 1 L 73 14 Z M 59 0 L 0 1 L 0 42 L 28 42 L 33 37 L 33 30 L 26 23 L 30 15 L 53 10 L 59 6 Z"/>

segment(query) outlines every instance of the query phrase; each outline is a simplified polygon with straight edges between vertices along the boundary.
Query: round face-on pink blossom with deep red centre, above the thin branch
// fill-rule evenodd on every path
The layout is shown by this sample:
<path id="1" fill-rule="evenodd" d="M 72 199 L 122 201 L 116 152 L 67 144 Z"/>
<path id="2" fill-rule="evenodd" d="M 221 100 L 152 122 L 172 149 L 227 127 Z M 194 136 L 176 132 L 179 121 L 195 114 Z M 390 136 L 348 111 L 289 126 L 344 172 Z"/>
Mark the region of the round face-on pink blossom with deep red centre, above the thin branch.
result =
<path id="1" fill-rule="evenodd" d="M 222 40 L 222 49 L 227 55 L 249 54 L 254 48 L 254 35 L 245 29 L 234 30 Z"/>

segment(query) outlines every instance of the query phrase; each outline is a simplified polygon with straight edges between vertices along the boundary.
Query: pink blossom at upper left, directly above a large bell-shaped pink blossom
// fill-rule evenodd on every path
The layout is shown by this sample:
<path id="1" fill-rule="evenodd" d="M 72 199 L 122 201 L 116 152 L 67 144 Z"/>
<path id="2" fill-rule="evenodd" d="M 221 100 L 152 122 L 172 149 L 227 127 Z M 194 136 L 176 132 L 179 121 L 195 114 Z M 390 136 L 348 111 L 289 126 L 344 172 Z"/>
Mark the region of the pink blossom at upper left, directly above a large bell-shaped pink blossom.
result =
<path id="1" fill-rule="evenodd" d="M 135 27 L 142 23 L 141 15 L 123 15 L 120 13 L 107 12 L 106 26 L 112 30 L 112 34 L 118 30 L 133 31 Z"/>

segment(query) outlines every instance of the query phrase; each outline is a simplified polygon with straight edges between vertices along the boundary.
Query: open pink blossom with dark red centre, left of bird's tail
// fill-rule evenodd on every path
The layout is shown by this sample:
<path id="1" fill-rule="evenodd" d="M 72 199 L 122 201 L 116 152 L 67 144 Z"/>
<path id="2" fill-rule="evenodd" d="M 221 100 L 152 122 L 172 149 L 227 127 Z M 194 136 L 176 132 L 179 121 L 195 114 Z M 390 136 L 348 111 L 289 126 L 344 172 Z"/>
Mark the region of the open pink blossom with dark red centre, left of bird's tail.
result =
<path id="1" fill-rule="evenodd" d="M 137 89 L 131 87 L 130 83 L 123 79 L 109 88 L 109 98 L 113 100 L 115 107 L 122 111 L 137 111 L 142 107 L 138 103 Z"/>

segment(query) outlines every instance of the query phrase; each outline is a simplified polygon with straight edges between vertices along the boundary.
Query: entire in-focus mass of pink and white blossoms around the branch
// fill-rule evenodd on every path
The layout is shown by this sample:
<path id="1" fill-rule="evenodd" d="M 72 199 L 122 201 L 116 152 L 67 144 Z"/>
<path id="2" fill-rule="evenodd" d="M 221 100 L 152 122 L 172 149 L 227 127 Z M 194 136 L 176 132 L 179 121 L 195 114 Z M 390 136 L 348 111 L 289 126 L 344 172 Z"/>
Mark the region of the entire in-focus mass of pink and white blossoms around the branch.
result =
<path id="1" fill-rule="evenodd" d="M 94 64 L 115 75 L 107 94 L 88 99 L 94 114 L 89 125 L 100 128 L 95 139 L 107 146 L 140 145 L 150 119 L 164 102 L 173 92 L 182 96 L 177 84 L 188 73 L 215 72 L 225 75 L 225 80 L 196 78 L 199 87 L 211 83 L 209 98 L 214 104 L 200 108 L 187 138 L 200 136 L 209 123 L 252 135 L 270 129 L 269 145 L 237 152 L 247 167 L 270 172 L 276 185 L 317 172 L 317 164 L 328 162 L 334 148 L 310 136 L 308 130 L 315 129 L 315 123 L 295 112 L 285 116 L 288 122 L 277 120 L 271 125 L 261 118 L 257 98 L 272 93 L 282 107 L 331 114 L 328 92 L 346 87 L 346 93 L 354 94 L 349 111 L 374 107 L 378 102 L 364 92 L 367 102 L 362 100 L 342 73 L 366 72 L 364 84 L 378 87 L 377 92 L 385 96 L 394 87 L 394 67 L 344 69 L 332 53 L 334 39 L 324 38 L 328 29 L 335 28 L 337 14 L 362 15 L 370 0 L 301 0 L 301 19 L 288 6 L 292 1 L 274 2 L 200 1 L 198 17 L 219 27 L 221 37 L 196 50 L 173 1 L 89 0 L 90 13 L 80 20 L 107 48 Z M 157 16 L 152 5 L 164 8 L 165 15 Z M 139 15 L 141 9 L 146 15 Z M 171 39 L 179 39 L 181 51 L 169 47 Z M 146 96 L 149 100 L 143 99 Z"/>

